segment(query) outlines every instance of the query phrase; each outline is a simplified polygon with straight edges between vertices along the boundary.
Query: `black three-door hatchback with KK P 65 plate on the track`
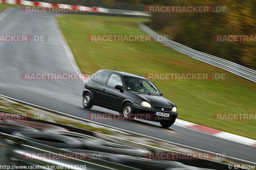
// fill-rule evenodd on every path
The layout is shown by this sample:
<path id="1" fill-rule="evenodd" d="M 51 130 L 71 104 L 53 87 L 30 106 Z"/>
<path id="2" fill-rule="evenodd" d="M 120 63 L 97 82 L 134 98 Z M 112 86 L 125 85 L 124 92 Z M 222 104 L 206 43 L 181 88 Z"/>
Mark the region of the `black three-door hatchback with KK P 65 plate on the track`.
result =
<path id="1" fill-rule="evenodd" d="M 177 107 L 163 97 L 147 78 L 114 70 L 99 70 L 84 85 L 83 105 L 93 105 L 130 114 L 150 114 L 151 121 L 169 128 L 178 116 Z"/>

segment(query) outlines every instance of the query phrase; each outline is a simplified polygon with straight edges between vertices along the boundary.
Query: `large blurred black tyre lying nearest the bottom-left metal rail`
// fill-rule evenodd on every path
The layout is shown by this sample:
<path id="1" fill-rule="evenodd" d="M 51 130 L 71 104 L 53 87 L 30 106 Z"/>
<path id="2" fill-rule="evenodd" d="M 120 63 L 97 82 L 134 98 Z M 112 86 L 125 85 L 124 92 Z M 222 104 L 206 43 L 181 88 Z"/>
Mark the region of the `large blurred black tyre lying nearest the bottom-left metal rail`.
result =
<path id="1" fill-rule="evenodd" d="M 15 131 L 12 133 L 13 136 L 22 137 L 24 139 L 53 146 L 56 148 L 83 148 L 83 142 L 76 140 L 72 137 L 63 135 L 57 135 L 47 132 L 28 132 L 28 131 Z"/>

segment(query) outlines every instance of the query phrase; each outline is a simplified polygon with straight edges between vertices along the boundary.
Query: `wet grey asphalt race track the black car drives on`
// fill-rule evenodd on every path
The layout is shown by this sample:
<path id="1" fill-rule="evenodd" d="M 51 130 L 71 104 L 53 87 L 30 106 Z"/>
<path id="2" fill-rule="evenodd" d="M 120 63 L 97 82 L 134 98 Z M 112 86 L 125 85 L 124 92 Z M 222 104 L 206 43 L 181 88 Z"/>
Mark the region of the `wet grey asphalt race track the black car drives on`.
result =
<path id="1" fill-rule="evenodd" d="M 90 13 L 91 14 L 91 13 Z M 0 42 L 0 94 L 81 118 L 89 113 L 116 113 L 82 107 L 81 80 L 22 80 L 22 73 L 75 73 L 52 22 L 53 13 L 14 9 L 0 21 L 0 34 L 47 35 L 45 42 Z M 84 37 L 86 40 L 86 38 Z M 86 48 L 86 47 L 84 47 Z M 96 121 L 227 156 L 256 162 L 256 148 L 173 125 L 146 121 Z"/>

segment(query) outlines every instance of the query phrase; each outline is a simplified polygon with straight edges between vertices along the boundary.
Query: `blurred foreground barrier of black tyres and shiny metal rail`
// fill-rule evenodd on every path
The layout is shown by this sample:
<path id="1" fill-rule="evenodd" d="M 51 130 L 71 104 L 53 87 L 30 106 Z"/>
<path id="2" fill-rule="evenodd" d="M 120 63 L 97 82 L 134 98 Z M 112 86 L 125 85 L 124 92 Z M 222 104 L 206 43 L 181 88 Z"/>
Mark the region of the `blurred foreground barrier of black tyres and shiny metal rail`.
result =
<path id="1" fill-rule="evenodd" d="M 19 115 L 11 117 L 18 118 Z M 199 156 L 199 154 L 204 154 L 199 151 L 192 151 L 194 155 L 191 156 L 190 153 L 189 156 L 186 153 L 152 147 L 90 130 L 44 120 L 28 119 L 29 117 L 23 121 L 0 121 L 0 127 L 2 127 L 0 131 L 1 170 L 85 168 L 127 170 L 209 170 L 208 168 L 210 168 L 226 170 L 228 167 L 227 164 L 213 159 L 211 154 L 206 154 L 208 159 Z M 33 125 L 34 128 L 25 125 Z M 43 129 L 36 129 L 38 127 L 43 127 Z M 159 157 L 159 154 L 166 157 Z M 168 155 L 174 157 L 171 158 Z M 239 163 L 245 162 L 240 160 Z M 3 168 L 1 167 L 3 165 L 9 167 Z M 27 167 L 17 168 L 16 165 Z M 28 168 L 28 166 L 53 167 Z"/>

